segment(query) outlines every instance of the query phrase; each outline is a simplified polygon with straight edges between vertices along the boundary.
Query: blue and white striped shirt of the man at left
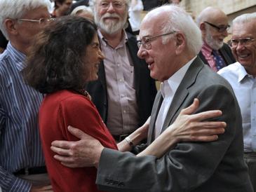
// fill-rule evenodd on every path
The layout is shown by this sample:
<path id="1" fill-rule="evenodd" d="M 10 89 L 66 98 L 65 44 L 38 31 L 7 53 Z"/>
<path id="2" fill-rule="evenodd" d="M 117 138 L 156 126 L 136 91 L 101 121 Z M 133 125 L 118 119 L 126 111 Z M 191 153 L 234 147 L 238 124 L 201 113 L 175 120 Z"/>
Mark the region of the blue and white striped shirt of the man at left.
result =
<path id="1" fill-rule="evenodd" d="M 0 55 L 0 186 L 29 191 L 31 184 L 13 175 L 25 167 L 43 166 L 38 111 L 43 96 L 25 85 L 20 71 L 25 55 L 8 43 Z"/>

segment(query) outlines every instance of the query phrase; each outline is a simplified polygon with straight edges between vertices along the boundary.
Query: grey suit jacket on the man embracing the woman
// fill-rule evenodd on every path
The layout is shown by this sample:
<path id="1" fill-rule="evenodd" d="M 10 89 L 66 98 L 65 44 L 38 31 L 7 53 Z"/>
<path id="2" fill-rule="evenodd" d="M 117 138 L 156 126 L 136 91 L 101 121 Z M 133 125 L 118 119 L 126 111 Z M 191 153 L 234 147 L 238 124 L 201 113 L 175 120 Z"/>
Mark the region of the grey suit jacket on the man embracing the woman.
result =
<path id="1" fill-rule="evenodd" d="M 104 191 L 251 192 L 243 161 L 241 114 L 229 83 L 203 64 L 199 57 L 189 67 L 170 105 L 165 130 L 181 109 L 197 97 L 196 113 L 220 109 L 227 128 L 215 142 L 180 142 L 160 159 L 136 157 L 104 149 L 96 184 Z M 154 140 L 154 124 L 162 97 L 158 93 L 151 113 L 148 144 Z M 213 120 L 213 119 L 212 119 Z"/>

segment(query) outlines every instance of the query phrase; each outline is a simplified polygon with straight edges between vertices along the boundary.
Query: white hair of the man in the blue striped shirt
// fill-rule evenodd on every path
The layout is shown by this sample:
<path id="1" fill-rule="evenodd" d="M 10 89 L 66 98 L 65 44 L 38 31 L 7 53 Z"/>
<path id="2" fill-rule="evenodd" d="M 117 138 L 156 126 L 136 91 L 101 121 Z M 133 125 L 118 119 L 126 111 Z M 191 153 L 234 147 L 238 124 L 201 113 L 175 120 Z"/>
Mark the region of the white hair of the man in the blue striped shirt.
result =
<path id="1" fill-rule="evenodd" d="M 4 21 L 7 18 L 22 18 L 27 11 L 39 7 L 46 7 L 49 11 L 51 4 L 49 0 L 0 0 L 0 7 L 0 29 L 6 39 L 8 39 L 8 34 L 4 25 Z"/>

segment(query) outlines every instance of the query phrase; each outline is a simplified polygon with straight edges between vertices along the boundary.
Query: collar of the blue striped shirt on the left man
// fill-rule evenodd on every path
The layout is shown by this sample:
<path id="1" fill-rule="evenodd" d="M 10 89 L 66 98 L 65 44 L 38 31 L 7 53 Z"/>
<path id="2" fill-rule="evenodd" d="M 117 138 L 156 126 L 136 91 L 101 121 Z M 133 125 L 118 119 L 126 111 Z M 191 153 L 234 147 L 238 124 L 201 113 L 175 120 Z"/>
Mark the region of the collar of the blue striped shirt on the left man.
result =
<path id="1" fill-rule="evenodd" d="M 24 53 L 21 53 L 19 50 L 17 50 L 16 48 L 14 48 L 11 45 L 11 42 L 8 43 L 6 50 L 8 51 L 11 59 L 15 62 L 15 67 L 17 67 L 17 69 L 19 71 L 21 71 L 22 69 L 25 68 L 25 59 L 26 59 L 26 55 Z"/>

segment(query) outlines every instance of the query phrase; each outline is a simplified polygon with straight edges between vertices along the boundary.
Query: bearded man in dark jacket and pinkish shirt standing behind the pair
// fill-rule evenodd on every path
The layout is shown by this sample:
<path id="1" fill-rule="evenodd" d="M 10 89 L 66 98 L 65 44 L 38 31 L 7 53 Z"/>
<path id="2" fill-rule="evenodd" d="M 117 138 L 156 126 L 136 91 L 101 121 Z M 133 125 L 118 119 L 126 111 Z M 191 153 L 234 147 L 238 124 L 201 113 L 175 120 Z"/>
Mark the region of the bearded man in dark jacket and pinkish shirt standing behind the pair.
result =
<path id="1" fill-rule="evenodd" d="M 102 53 L 98 79 L 86 90 L 116 142 L 149 118 L 156 96 L 154 79 L 137 57 L 137 40 L 125 32 L 129 0 L 90 0 Z"/>

